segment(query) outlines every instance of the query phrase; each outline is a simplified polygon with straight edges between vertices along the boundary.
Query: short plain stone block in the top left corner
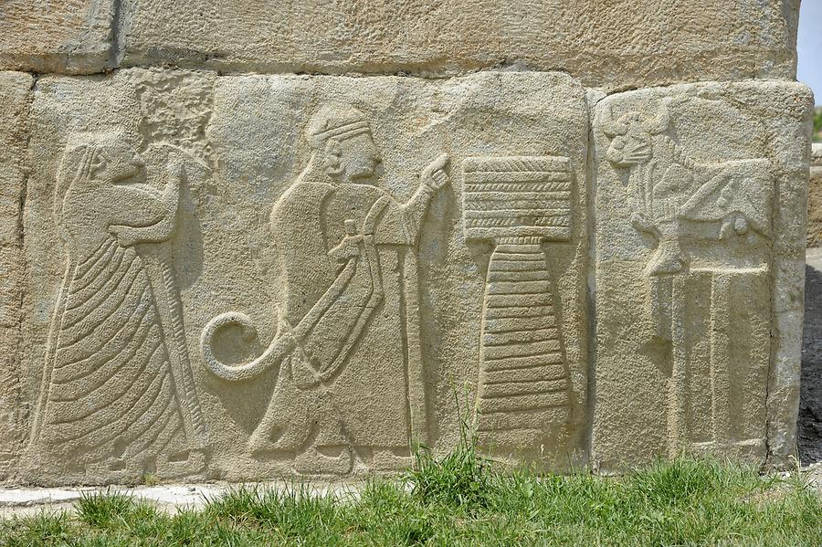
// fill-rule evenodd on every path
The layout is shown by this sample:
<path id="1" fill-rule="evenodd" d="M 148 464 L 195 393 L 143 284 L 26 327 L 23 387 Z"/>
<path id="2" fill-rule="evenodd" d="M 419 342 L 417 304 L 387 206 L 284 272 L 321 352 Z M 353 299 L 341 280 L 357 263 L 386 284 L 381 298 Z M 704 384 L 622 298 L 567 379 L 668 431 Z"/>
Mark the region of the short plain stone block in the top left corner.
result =
<path id="1" fill-rule="evenodd" d="M 115 0 L 4 0 L 0 68 L 91 73 L 113 60 Z"/>

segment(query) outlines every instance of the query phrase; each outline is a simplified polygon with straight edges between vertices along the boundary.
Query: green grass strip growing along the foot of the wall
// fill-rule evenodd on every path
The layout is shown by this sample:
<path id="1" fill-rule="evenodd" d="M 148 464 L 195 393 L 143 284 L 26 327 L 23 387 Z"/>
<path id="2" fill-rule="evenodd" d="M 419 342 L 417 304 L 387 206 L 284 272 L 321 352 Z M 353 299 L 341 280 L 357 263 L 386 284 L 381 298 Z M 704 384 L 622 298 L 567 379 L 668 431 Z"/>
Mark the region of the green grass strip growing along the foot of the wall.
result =
<path id="1" fill-rule="evenodd" d="M 539 475 L 480 456 L 475 438 L 363 489 L 237 487 L 164 514 L 121 494 L 75 514 L 0 521 L 0 545 L 822 545 L 822 498 L 801 475 L 683 456 L 620 478 Z"/>

